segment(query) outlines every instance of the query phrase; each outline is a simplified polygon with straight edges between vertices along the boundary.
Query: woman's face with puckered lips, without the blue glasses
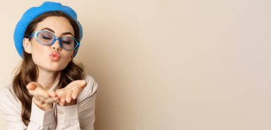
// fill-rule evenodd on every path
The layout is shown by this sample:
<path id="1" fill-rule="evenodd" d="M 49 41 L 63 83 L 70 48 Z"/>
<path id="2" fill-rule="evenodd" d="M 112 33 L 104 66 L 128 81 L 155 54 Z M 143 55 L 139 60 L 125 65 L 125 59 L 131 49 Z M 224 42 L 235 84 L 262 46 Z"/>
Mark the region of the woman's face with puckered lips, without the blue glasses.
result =
<path id="1" fill-rule="evenodd" d="M 37 24 L 35 31 L 48 31 L 54 36 L 74 37 L 73 27 L 67 18 L 60 16 L 49 16 Z M 56 40 L 53 45 L 42 45 L 35 38 L 29 40 L 29 44 L 25 43 L 26 53 L 31 53 L 34 63 L 39 70 L 60 71 L 63 70 L 71 61 L 73 50 L 64 50 Z"/>

